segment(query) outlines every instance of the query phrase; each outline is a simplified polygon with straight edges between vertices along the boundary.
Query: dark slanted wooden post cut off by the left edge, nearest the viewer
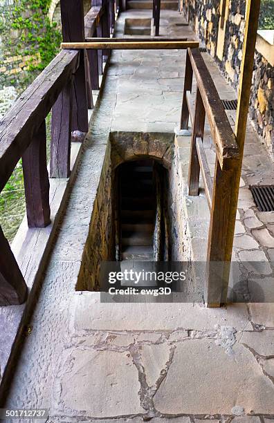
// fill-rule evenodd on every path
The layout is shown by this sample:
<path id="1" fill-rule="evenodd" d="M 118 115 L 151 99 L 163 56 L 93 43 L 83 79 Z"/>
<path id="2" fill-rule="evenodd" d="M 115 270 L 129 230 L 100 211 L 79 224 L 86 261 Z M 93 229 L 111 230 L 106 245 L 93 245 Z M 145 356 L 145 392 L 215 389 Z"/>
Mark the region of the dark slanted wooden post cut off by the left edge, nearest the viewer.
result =
<path id="1" fill-rule="evenodd" d="M 1 227 L 0 252 L 0 306 L 22 304 L 26 301 L 28 288 Z"/>

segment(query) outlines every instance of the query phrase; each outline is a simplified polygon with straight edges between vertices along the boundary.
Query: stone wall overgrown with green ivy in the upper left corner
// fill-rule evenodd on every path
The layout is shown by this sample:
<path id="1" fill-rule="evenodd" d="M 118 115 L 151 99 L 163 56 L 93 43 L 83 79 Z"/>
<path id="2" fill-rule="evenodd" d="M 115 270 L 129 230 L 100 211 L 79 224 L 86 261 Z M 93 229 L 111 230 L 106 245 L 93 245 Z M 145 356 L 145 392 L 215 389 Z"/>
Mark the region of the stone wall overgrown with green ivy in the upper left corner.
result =
<path id="1" fill-rule="evenodd" d="M 24 90 L 59 50 L 48 6 L 49 0 L 0 0 L 0 89 Z"/>

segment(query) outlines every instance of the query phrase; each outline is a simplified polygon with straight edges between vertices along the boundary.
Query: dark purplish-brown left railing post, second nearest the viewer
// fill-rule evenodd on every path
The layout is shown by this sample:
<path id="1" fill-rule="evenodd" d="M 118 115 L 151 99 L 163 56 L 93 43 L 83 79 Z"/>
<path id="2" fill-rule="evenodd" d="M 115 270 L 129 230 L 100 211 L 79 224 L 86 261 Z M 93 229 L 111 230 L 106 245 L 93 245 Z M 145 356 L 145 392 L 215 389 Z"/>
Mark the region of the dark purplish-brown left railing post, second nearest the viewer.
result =
<path id="1" fill-rule="evenodd" d="M 29 227 L 46 227 L 51 223 L 49 181 L 46 168 L 46 122 L 43 120 L 22 156 L 26 214 Z"/>

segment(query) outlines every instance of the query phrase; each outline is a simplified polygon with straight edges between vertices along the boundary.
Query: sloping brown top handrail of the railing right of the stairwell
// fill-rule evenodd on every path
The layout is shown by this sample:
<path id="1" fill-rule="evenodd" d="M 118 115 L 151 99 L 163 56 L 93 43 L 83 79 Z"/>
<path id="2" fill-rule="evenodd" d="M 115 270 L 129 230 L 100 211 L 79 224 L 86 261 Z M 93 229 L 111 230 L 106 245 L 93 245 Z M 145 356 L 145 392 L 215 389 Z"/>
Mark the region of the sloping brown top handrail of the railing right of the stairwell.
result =
<path id="1" fill-rule="evenodd" d="M 198 49 L 188 49 L 188 55 L 206 109 L 217 157 L 223 169 L 227 160 L 239 158 L 236 138 L 201 53 Z"/>

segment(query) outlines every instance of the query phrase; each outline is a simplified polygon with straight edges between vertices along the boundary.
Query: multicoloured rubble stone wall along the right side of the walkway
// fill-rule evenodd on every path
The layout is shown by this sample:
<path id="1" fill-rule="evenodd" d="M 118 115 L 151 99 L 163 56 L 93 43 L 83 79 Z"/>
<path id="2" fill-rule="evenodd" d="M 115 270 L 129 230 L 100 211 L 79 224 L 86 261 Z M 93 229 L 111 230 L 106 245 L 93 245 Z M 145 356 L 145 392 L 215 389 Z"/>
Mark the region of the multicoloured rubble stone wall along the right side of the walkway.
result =
<path id="1" fill-rule="evenodd" d="M 239 86 L 239 71 L 245 30 L 245 0 L 230 0 L 226 21 L 223 58 L 216 56 L 220 18 L 220 0 L 183 0 L 181 10 L 190 21 L 208 53 L 214 57 L 226 79 Z M 250 118 L 273 156 L 274 145 L 274 68 L 257 50 L 255 52 L 253 85 L 250 96 Z"/>

